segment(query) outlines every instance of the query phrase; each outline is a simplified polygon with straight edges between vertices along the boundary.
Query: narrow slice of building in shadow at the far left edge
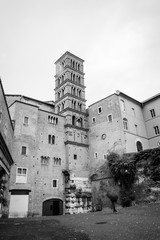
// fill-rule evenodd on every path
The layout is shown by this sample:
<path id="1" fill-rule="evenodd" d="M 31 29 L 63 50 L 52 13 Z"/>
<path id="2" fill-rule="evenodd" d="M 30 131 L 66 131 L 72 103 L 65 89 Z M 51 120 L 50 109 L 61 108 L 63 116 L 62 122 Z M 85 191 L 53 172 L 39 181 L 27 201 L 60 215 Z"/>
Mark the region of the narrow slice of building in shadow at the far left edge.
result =
<path id="1" fill-rule="evenodd" d="M 10 170 L 12 158 L 13 125 L 0 80 L 0 215 L 8 214 L 8 207 L 4 206 L 3 199 L 9 201 Z M 5 186 L 5 188 L 3 187 Z"/>

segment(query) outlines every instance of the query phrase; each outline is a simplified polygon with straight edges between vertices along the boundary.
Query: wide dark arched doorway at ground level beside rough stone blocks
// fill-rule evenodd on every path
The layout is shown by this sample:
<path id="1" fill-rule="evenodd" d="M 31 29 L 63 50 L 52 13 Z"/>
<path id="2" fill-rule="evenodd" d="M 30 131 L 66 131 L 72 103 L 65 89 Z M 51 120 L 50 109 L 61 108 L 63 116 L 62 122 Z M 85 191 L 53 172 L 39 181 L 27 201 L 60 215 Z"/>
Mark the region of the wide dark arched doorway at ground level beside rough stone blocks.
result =
<path id="1" fill-rule="evenodd" d="M 63 215 L 63 201 L 58 198 L 52 198 L 43 202 L 43 216 Z"/>

